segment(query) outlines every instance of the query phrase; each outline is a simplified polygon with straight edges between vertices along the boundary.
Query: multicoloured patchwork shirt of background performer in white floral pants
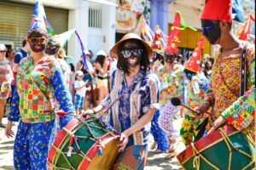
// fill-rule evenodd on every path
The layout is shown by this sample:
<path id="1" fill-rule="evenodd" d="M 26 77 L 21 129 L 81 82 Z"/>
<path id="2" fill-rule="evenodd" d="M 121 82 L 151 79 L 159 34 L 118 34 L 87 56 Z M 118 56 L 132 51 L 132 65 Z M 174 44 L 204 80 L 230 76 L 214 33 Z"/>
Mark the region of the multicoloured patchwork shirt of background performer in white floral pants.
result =
<path id="1" fill-rule="evenodd" d="M 171 73 L 166 72 L 166 66 L 161 66 L 156 74 L 160 78 L 160 104 L 166 104 L 173 97 L 179 98 L 185 104 L 185 74 L 183 65 L 174 65 Z"/>

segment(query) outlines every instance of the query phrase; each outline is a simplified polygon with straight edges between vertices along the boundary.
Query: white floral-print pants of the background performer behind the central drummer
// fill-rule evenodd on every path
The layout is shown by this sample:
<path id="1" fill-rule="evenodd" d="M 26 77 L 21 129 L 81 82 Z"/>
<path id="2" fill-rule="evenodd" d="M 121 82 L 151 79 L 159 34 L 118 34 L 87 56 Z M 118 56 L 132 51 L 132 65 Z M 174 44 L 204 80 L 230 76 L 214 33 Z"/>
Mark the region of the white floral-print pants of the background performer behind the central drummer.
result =
<path id="1" fill-rule="evenodd" d="M 181 106 L 172 105 L 171 101 L 168 101 L 166 105 L 161 105 L 159 125 L 164 130 L 168 139 L 168 148 L 170 148 L 171 140 L 178 137 L 177 131 L 173 127 L 174 116 L 180 111 Z"/>

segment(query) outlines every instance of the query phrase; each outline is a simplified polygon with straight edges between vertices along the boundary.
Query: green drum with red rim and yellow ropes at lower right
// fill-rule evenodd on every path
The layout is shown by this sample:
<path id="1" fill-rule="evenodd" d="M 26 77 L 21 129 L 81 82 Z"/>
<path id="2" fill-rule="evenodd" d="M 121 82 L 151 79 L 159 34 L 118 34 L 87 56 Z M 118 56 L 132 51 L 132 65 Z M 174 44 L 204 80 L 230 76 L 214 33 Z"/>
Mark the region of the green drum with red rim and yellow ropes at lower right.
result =
<path id="1" fill-rule="evenodd" d="M 177 160 L 188 170 L 251 170 L 255 166 L 254 142 L 227 125 L 189 145 Z"/>

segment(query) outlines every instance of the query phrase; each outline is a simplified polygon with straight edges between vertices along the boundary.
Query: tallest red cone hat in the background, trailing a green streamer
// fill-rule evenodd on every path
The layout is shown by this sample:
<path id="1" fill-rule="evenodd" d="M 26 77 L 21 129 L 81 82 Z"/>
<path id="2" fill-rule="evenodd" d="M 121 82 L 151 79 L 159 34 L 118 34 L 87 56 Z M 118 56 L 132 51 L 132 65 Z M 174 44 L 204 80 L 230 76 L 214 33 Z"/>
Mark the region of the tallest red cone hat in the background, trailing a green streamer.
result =
<path id="1" fill-rule="evenodd" d="M 180 35 L 180 14 L 176 12 L 165 53 L 177 54 L 177 42 Z"/>

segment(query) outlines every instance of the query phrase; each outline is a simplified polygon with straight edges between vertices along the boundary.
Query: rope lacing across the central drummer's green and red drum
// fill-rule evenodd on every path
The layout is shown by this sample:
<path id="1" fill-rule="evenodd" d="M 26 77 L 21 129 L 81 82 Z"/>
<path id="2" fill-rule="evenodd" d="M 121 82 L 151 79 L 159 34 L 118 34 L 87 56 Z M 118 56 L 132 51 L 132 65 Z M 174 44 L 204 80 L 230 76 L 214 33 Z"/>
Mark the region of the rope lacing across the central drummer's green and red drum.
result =
<path id="1" fill-rule="evenodd" d="M 96 119 L 96 117 L 94 117 Z M 79 146 L 79 139 L 90 139 L 92 140 L 93 142 L 96 142 L 95 146 L 96 147 L 99 147 L 99 148 L 104 148 L 104 144 L 102 144 L 100 138 L 96 137 L 90 130 L 90 127 L 93 127 L 93 128 L 96 128 L 96 129 L 100 129 L 100 130 L 103 130 L 107 133 L 109 133 L 110 135 L 112 135 L 114 138 L 117 138 L 112 131 L 108 130 L 108 129 L 105 129 L 103 127 L 96 127 L 94 125 L 89 125 L 88 123 L 89 122 L 93 122 L 95 121 L 94 119 L 91 119 L 91 120 L 87 120 L 87 121 L 84 121 L 83 119 L 80 119 L 79 117 L 77 117 L 77 119 L 79 119 L 79 121 L 81 123 L 79 123 L 79 125 L 73 130 L 73 132 L 71 132 L 70 130 L 67 130 L 67 128 L 63 127 L 62 129 L 67 132 L 68 134 L 68 137 L 66 139 L 64 139 L 63 143 L 61 144 L 61 148 L 58 148 L 56 147 L 54 144 L 53 144 L 53 147 L 55 148 L 56 150 L 56 155 L 55 157 L 60 157 L 60 156 L 63 156 L 64 159 L 67 161 L 67 164 L 69 165 L 68 168 L 66 167 L 56 167 L 56 163 L 57 163 L 57 159 L 54 159 L 54 162 L 50 162 L 48 161 L 48 163 L 53 167 L 53 169 L 57 169 L 57 170 L 76 170 L 75 167 L 72 166 L 71 162 L 68 161 L 67 159 L 67 152 L 63 152 L 62 150 L 64 149 L 64 147 L 68 144 L 68 142 L 71 142 L 72 139 L 74 139 L 74 142 L 75 144 L 77 145 L 77 148 L 78 148 L 78 151 L 75 152 L 75 151 L 72 151 L 70 154 L 71 155 L 76 155 L 76 156 L 81 156 L 83 157 L 84 159 L 88 160 L 88 161 L 91 161 L 90 157 L 86 156 L 85 153 L 83 152 L 83 150 L 81 150 L 80 146 Z M 100 124 L 102 124 L 100 122 Z M 77 136 L 77 135 L 74 135 L 74 133 L 76 133 L 81 127 L 84 127 L 83 125 L 85 125 L 85 127 L 87 128 L 88 132 L 90 133 L 90 136 L 88 137 L 84 137 L 84 136 Z"/>

